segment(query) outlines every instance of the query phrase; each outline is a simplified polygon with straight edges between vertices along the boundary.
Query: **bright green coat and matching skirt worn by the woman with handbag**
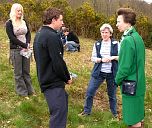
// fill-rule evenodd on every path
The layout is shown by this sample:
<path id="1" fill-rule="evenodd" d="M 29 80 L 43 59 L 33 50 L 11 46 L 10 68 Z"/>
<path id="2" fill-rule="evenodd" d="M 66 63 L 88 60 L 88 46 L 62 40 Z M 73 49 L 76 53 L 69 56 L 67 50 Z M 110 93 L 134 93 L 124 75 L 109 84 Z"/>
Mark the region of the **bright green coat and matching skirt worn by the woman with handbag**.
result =
<path id="1" fill-rule="evenodd" d="M 144 118 L 144 96 L 145 96 L 145 46 L 141 36 L 132 27 L 124 35 L 121 42 L 118 72 L 115 81 L 122 88 L 122 80 L 136 80 L 136 58 L 135 44 L 137 51 L 138 83 L 135 96 L 122 94 L 122 114 L 127 125 L 133 125 Z"/>

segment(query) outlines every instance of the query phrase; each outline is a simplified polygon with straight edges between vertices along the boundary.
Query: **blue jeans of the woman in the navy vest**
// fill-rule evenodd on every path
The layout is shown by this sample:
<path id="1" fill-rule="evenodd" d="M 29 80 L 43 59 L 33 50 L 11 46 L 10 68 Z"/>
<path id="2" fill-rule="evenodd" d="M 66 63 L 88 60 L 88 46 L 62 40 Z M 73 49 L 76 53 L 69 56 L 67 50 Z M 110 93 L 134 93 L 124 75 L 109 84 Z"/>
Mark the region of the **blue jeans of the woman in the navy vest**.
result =
<path id="1" fill-rule="evenodd" d="M 107 83 L 107 93 L 109 97 L 110 110 L 114 116 L 117 115 L 117 99 L 116 99 L 116 84 L 114 82 L 114 77 L 112 73 L 103 73 L 100 72 L 98 78 L 91 77 L 87 92 L 86 92 L 86 100 L 84 105 L 84 112 L 87 114 L 91 113 L 92 105 L 93 105 L 93 97 L 100 84 L 104 82 L 106 79 Z"/>

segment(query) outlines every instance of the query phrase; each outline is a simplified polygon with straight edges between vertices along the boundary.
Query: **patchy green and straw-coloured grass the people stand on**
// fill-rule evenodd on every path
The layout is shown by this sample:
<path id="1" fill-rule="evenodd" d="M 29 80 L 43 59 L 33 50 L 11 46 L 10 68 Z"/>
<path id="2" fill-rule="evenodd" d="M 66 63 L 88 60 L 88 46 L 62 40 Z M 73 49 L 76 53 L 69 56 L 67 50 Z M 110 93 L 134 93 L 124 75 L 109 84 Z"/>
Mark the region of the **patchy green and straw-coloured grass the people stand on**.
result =
<path id="1" fill-rule="evenodd" d="M 32 83 L 36 96 L 25 100 L 15 94 L 12 66 L 9 65 L 9 43 L 4 27 L 0 27 L 0 128 L 48 128 L 49 113 L 46 101 L 37 81 L 34 59 L 31 62 Z M 33 35 L 34 36 L 34 33 Z M 65 53 L 65 61 L 71 72 L 78 75 L 69 93 L 67 128 L 126 128 L 121 116 L 121 95 L 118 88 L 118 112 L 120 121 L 112 119 L 109 111 L 105 84 L 95 96 L 92 115 L 79 117 L 93 64 L 90 61 L 94 40 L 80 37 L 81 52 Z M 146 50 L 145 128 L 152 128 L 152 51 Z"/>

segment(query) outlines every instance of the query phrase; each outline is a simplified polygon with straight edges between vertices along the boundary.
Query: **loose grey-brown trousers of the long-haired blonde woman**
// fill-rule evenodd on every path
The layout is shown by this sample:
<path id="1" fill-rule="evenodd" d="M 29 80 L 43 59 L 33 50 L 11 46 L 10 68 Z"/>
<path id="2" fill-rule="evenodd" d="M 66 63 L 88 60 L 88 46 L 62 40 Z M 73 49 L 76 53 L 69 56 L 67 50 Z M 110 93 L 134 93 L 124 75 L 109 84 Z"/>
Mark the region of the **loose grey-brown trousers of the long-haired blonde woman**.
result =
<path id="1" fill-rule="evenodd" d="M 35 93 L 30 76 L 30 59 L 21 56 L 20 49 L 11 49 L 10 59 L 14 67 L 16 93 L 20 96 Z"/>

